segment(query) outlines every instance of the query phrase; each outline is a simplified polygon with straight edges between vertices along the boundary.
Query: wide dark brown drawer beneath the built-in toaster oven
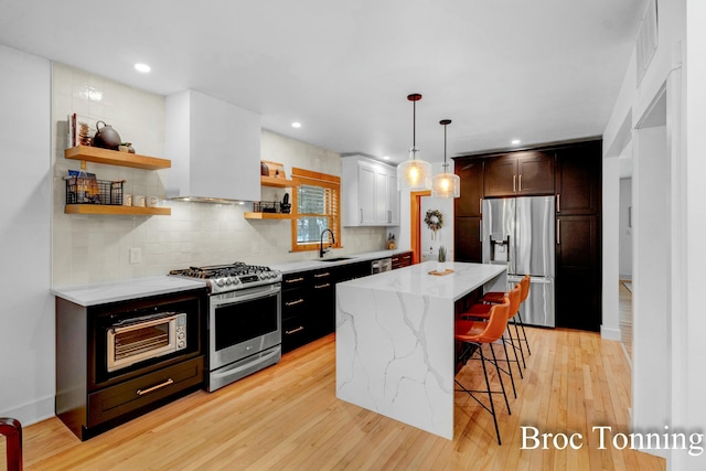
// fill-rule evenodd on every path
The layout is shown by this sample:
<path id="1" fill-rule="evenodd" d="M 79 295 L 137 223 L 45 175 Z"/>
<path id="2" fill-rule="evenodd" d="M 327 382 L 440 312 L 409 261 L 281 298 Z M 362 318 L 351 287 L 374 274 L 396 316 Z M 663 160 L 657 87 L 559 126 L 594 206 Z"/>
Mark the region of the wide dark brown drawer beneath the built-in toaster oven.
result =
<path id="1" fill-rule="evenodd" d="M 203 365 L 202 355 L 89 394 L 88 427 L 95 427 L 191 386 L 203 384 Z"/>

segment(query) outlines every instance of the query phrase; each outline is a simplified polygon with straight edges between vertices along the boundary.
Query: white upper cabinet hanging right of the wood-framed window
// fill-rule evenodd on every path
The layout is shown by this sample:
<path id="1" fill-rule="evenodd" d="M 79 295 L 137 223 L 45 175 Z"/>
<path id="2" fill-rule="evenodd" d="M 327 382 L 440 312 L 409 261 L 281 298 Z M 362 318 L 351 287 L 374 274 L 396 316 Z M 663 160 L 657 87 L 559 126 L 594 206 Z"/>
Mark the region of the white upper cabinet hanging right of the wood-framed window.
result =
<path id="1" fill-rule="evenodd" d="M 399 225 L 397 169 L 360 156 L 343 158 L 344 226 Z"/>

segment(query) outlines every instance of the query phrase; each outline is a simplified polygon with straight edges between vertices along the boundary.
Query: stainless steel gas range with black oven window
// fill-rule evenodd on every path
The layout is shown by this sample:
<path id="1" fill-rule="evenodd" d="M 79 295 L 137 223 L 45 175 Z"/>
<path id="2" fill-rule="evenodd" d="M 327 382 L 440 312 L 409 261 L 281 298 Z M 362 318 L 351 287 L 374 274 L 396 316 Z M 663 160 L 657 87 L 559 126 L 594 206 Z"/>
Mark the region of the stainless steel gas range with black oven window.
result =
<path id="1" fill-rule="evenodd" d="M 171 276 L 199 278 L 208 286 L 208 371 L 216 390 L 281 358 L 281 280 L 268 267 L 191 267 Z"/>

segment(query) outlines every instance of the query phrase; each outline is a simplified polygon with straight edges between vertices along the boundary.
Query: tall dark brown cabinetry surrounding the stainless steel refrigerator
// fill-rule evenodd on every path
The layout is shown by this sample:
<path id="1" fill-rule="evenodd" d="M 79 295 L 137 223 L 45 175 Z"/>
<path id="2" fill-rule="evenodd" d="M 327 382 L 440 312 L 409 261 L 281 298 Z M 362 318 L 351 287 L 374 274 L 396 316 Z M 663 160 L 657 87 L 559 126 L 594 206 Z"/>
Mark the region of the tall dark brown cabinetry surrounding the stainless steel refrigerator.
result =
<path id="1" fill-rule="evenodd" d="M 458 261 L 481 263 L 482 197 L 556 197 L 556 325 L 599 331 L 601 324 L 602 141 L 454 158 L 461 197 L 454 203 Z"/>

